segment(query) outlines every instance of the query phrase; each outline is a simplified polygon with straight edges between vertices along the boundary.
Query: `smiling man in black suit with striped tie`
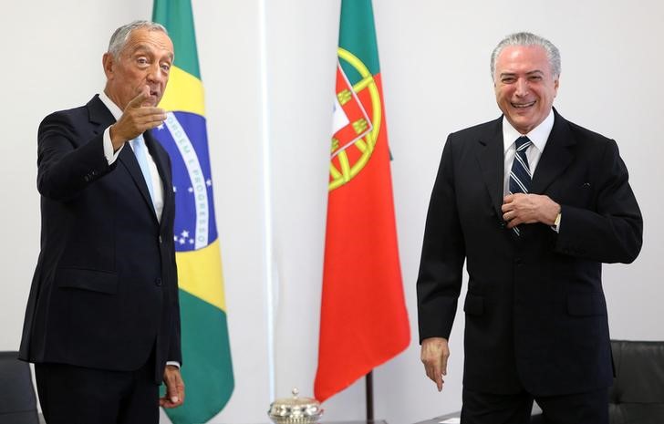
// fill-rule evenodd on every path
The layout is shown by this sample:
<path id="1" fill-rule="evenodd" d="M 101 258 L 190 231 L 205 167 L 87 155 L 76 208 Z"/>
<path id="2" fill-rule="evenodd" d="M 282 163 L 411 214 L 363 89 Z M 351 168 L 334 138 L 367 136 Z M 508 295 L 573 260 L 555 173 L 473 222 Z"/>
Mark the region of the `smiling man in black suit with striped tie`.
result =
<path id="1" fill-rule="evenodd" d="M 602 263 L 631 263 L 643 222 L 617 144 L 553 109 L 560 55 L 529 33 L 493 51 L 503 117 L 452 133 L 418 277 L 421 359 L 438 389 L 465 297 L 463 424 L 607 423 L 613 371 Z M 525 139 L 523 136 L 527 137 Z"/>

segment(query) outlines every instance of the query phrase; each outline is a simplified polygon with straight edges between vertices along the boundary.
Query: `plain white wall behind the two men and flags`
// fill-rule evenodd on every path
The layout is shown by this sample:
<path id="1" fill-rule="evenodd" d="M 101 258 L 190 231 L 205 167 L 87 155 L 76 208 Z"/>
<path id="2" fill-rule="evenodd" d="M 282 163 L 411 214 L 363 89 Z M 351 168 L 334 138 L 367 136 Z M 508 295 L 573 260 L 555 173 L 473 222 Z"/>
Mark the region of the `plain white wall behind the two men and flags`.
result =
<path id="1" fill-rule="evenodd" d="M 217 421 L 262 422 L 272 390 L 278 397 L 293 386 L 313 393 L 339 2 L 192 3 L 236 381 Z M 413 335 L 404 354 L 375 372 L 377 417 L 406 424 L 461 406 L 462 315 L 452 333 L 450 375 L 439 394 L 419 362 L 414 283 L 442 143 L 452 130 L 498 117 L 488 58 L 501 37 L 517 30 L 547 36 L 561 49 L 555 106 L 565 118 L 617 140 L 644 214 L 644 247 L 637 262 L 605 267 L 612 336 L 664 339 L 658 325 L 664 299 L 659 284 L 664 5 L 659 0 L 561 0 L 555 5 L 375 0 L 374 9 Z M 48 112 L 83 104 L 99 91 L 101 53 L 110 33 L 150 13 L 150 0 L 33 0 L 7 5 L 0 16 L 0 349 L 18 346 L 38 253 L 36 127 Z M 265 192 L 271 194 L 269 204 Z M 271 231 L 265 230 L 265 213 Z M 272 243 L 265 246 L 266 240 Z M 275 289 L 268 296 L 270 272 Z M 268 298 L 276 306 L 275 388 L 268 372 Z M 363 396 L 359 382 L 331 398 L 324 405 L 327 420 L 361 419 Z"/>

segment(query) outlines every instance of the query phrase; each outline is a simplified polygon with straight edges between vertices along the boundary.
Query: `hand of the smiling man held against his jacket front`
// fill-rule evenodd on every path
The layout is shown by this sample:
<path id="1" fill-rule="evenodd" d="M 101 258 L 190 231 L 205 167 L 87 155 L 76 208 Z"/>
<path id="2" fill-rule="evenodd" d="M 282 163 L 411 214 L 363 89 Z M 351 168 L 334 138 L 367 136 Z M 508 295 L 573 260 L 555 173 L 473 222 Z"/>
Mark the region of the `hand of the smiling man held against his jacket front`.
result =
<path id="1" fill-rule="evenodd" d="M 509 194 L 503 199 L 502 209 L 507 228 L 534 222 L 553 225 L 560 213 L 560 205 L 542 194 Z"/>

